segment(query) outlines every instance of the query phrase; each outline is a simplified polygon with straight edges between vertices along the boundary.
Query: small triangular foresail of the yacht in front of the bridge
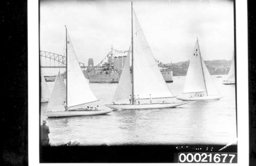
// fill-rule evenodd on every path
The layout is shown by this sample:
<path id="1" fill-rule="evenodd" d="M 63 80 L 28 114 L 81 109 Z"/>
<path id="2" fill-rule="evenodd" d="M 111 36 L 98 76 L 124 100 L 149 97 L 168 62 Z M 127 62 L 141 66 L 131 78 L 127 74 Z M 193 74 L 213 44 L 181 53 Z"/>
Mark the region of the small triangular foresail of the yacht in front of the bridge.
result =
<path id="1" fill-rule="evenodd" d="M 63 82 L 60 72 L 54 82 L 51 98 L 48 103 L 48 111 L 64 111 L 63 102 L 66 102 L 66 85 Z"/>

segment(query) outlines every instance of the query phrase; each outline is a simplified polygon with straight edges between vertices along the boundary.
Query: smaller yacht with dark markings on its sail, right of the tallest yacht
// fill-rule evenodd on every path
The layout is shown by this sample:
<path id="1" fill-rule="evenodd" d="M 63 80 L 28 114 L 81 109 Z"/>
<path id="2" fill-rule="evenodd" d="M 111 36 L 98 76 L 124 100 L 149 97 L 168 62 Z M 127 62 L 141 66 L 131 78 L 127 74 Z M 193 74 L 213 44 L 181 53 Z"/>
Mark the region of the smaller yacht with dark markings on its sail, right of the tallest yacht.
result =
<path id="1" fill-rule="evenodd" d="M 218 100 L 222 97 L 203 61 L 197 39 L 194 53 L 189 60 L 182 97 L 177 99 L 183 101 Z"/>

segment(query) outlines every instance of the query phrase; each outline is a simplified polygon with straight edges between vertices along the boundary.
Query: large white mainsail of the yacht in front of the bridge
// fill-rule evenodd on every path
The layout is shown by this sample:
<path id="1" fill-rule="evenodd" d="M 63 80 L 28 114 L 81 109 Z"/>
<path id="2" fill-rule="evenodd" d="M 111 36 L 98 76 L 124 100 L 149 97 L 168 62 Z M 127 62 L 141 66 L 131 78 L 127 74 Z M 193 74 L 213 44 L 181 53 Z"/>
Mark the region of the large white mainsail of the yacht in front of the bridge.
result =
<path id="1" fill-rule="evenodd" d="M 82 105 L 98 101 L 94 96 L 86 78 L 78 63 L 71 39 L 67 37 L 68 61 L 67 61 L 67 82 L 68 82 L 68 107 Z"/>

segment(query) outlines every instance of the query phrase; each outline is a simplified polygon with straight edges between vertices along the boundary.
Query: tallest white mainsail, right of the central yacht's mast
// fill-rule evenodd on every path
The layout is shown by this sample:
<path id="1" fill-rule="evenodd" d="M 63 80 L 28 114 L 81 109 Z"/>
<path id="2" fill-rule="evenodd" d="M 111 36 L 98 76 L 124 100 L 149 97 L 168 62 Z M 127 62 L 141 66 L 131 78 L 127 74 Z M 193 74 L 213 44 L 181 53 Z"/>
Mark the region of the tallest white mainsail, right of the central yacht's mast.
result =
<path id="1" fill-rule="evenodd" d="M 160 73 L 134 10 L 133 15 L 134 94 L 139 94 L 140 99 L 147 99 L 150 94 L 152 98 L 174 97 Z"/>

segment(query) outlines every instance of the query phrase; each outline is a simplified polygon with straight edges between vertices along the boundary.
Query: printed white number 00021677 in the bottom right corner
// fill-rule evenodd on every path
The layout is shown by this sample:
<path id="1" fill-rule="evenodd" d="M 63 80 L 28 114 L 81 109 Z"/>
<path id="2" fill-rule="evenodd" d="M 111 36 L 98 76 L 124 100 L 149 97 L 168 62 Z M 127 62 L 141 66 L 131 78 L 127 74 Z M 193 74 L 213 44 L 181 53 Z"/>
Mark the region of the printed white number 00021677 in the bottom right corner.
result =
<path id="1" fill-rule="evenodd" d="M 179 153 L 179 163 L 237 163 L 237 153 Z"/>

